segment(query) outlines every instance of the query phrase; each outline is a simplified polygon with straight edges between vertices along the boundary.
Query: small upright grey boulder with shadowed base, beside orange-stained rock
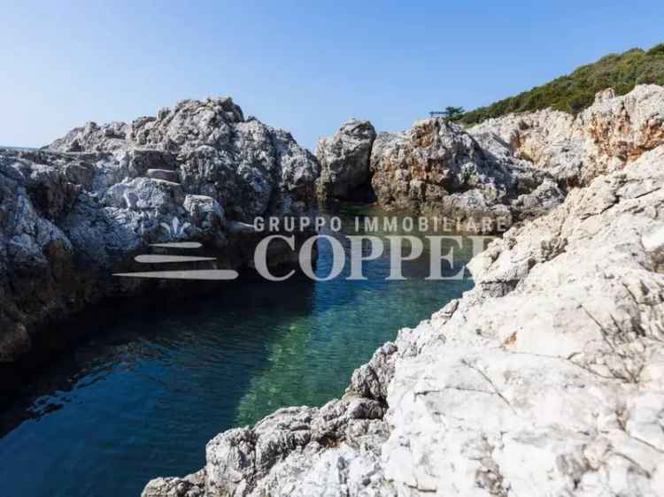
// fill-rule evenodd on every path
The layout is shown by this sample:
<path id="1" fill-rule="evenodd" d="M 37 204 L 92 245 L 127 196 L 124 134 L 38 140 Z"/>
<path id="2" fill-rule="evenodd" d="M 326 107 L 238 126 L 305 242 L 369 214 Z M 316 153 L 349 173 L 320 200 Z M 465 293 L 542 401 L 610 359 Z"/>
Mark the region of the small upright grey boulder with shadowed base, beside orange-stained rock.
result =
<path id="1" fill-rule="evenodd" d="M 320 138 L 318 195 L 321 199 L 364 200 L 367 197 L 369 157 L 376 134 L 369 121 L 349 119 L 331 138 Z"/>

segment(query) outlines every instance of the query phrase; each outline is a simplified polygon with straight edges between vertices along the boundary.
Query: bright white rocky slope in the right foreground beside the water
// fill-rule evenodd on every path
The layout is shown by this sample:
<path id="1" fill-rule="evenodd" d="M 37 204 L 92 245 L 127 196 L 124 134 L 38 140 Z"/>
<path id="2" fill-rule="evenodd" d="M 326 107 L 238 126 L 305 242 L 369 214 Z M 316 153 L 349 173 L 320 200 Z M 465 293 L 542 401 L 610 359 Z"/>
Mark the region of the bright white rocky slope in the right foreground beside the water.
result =
<path id="1" fill-rule="evenodd" d="M 378 349 L 341 400 L 221 433 L 202 473 L 143 496 L 655 497 L 663 268 L 660 145 L 492 242 L 475 288 Z"/>

